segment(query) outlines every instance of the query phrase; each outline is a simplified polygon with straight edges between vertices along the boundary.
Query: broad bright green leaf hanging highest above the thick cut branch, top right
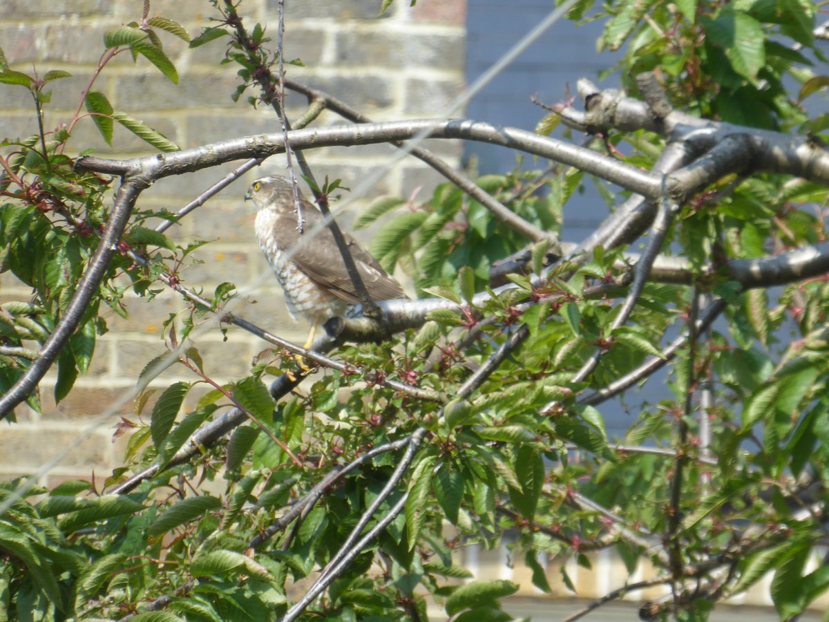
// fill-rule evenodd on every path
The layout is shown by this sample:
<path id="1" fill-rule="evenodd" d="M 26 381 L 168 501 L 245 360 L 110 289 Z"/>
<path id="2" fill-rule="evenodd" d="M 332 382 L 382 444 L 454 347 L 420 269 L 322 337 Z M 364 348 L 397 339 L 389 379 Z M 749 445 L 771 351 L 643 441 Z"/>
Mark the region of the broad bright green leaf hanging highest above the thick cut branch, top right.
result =
<path id="1" fill-rule="evenodd" d="M 766 64 L 763 25 L 754 17 L 725 7 L 715 19 L 702 18 L 706 36 L 725 52 L 735 73 L 751 82 Z"/>

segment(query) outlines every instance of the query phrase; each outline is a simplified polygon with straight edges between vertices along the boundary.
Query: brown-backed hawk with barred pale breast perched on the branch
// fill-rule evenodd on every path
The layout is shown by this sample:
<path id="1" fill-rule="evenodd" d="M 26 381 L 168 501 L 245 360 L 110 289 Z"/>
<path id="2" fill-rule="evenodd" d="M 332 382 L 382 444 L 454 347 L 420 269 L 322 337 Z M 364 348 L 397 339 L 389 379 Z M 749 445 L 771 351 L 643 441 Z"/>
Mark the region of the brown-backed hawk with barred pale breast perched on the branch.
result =
<path id="1" fill-rule="evenodd" d="M 322 212 L 300 194 L 303 218 L 300 231 L 293 186 L 285 177 L 257 179 L 245 194 L 245 200 L 248 199 L 258 210 L 256 238 L 282 286 L 291 317 L 308 318 L 313 335 L 318 323 L 349 315 L 360 300 L 331 231 L 327 226 L 317 230 Z M 371 299 L 378 302 L 405 298 L 395 278 L 351 236 L 345 232 L 342 235 Z M 303 241 L 304 236 L 313 237 Z"/>

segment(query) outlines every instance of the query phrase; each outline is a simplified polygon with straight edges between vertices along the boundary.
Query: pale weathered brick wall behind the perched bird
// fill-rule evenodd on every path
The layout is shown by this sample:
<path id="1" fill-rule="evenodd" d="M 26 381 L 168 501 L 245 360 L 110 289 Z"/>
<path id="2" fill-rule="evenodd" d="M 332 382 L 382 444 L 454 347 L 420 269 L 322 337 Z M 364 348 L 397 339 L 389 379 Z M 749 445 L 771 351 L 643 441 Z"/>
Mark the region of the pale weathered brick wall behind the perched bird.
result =
<path id="1" fill-rule="evenodd" d="M 90 80 L 103 51 L 104 32 L 141 17 L 139 0 L 3 0 L 0 2 L 0 46 L 13 69 L 31 71 L 63 69 L 73 77 L 53 83 L 51 104 L 46 108 L 45 127 L 55 128 L 71 119 L 82 90 Z M 384 17 L 377 19 L 381 0 L 330 0 L 300 2 L 286 0 L 286 58 L 299 57 L 305 68 L 289 66 L 289 75 L 327 90 L 378 121 L 420 118 L 439 114 L 463 86 L 465 0 L 395 2 Z M 151 14 L 181 22 L 191 36 L 210 25 L 214 9 L 206 0 L 153 2 Z M 240 7 L 246 25 L 256 21 L 269 26 L 275 40 L 277 2 L 245 0 Z M 213 41 L 190 50 L 184 41 L 162 33 L 168 56 L 180 75 L 172 85 L 146 59 L 134 64 L 128 54 L 116 56 L 106 67 L 95 88 L 109 98 L 115 109 L 142 119 L 184 148 L 225 138 L 279 131 L 269 109 L 255 110 L 231 100 L 237 77 L 233 65 L 220 65 L 225 41 Z M 304 100 L 288 99 L 289 112 L 296 118 Z M 342 122 L 324 114 L 322 123 Z M 117 126 L 118 124 L 116 124 Z M 21 87 L 0 85 L 0 137 L 25 137 L 36 132 L 31 96 Z M 100 138 L 89 119 L 75 126 L 70 152 L 95 148 L 111 157 L 135 157 L 153 149 L 125 129 L 116 127 L 114 148 Z M 460 148 L 455 143 L 434 146 L 451 163 L 458 163 Z M 388 161 L 393 148 L 375 145 L 366 148 L 326 148 L 309 152 L 308 159 L 319 178 L 342 177 L 351 187 L 370 170 Z M 72 153 L 70 153 L 71 155 Z M 237 163 L 238 164 L 238 163 Z M 198 252 L 204 261 L 182 272 L 188 287 L 206 292 L 223 281 L 248 286 L 235 312 L 274 333 L 304 341 L 307 327 L 293 323 L 284 310 L 282 294 L 260 255 L 253 238 L 253 214 L 241 197 L 256 177 L 283 170 L 284 160 L 274 157 L 259 169 L 212 198 L 204 207 L 173 227 L 168 235 L 179 243 L 211 240 Z M 233 165 L 165 179 L 149 188 L 140 207 L 167 207 L 175 211 L 228 173 Z M 264 169 L 264 170 L 263 170 Z M 376 194 L 410 193 L 429 186 L 439 178 L 417 160 L 408 158 L 390 170 Z M 363 202 L 365 204 L 365 201 Z M 357 203 L 359 207 L 360 202 Z M 353 212 L 342 216 L 348 227 Z M 368 234 L 371 235 L 371 234 Z M 264 275 L 264 279 L 260 278 Z M 31 292 L 12 275 L 0 275 L 0 302 L 27 300 Z M 43 413 L 18 407 L 17 425 L 0 424 L 0 477 L 29 474 L 71 447 L 70 454 L 46 475 L 43 483 L 55 485 L 67 478 L 96 479 L 109 475 L 119 464 L 124 447 L 113 444 L 114 424 L 119 414 L 130 415 L 132 404 L 121 406 L 103 425 L 79 434 L 119 397 L 134 386 L 144 365 L 164 352 L 162 323 L 170 313 L 186 305 L 177 295 L 165 293 L 152 302 L 128 299 L 130 317 L 109 313 L 110 332 L 99 338 L 90 372 L 80 377 L 70 396 L 60 405 L 52 399 L 55 375 L 41 382 Z M 215 323 L 196 338 L 207 371 L 220 380 L 239 377 L 251 358 L 264 348 L 255 338 L 231 328 L 227 341 Z M 192 381 L 187 372 L 168 370 L 153 385 L 164 387 L 180 377 Z M 196 394 L 193 394 L 196 396 Z"/>

